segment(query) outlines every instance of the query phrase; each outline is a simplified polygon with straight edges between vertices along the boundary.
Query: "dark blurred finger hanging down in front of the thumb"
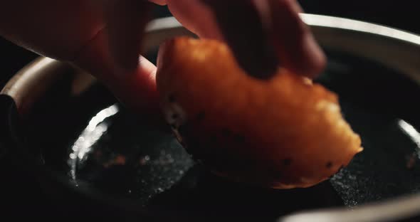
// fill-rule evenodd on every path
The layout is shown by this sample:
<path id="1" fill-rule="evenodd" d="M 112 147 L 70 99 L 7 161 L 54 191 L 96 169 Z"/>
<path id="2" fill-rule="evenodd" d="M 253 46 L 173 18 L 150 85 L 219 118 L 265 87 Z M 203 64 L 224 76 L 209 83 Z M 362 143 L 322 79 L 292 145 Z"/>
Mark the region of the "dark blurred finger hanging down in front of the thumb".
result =
<path id="1" fill-rule="evenodd" d="M 139 65 L 142 34 L 149 21 L 150 3 L 142 0 L 104 1 L 107 43 L 116 68 L 135 70 Z"/>

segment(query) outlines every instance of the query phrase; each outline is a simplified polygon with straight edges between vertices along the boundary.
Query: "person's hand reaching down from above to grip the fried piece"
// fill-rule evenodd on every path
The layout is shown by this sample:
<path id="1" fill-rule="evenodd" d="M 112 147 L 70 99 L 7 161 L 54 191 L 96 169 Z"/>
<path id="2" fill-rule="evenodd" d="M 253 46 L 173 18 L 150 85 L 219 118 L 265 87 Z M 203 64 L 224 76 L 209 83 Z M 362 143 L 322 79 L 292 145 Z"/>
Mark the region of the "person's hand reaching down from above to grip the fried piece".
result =
<path id="1" fill-rule="evenodd" d="M 254 1 L 153 2 L 168 4 L 201 38 L 226 41 L 251 75 L 270 75 L 278 65 L 310 77 L 319 73 L 325 57 L 300 21 L 298 4 Z M 0 9 L 0 34 L 42 56 L 78 65 L 125 105 L 156 114 L 156 67 L 139 57 L 151 7 L 142 0 L 15 0 Z"/>

